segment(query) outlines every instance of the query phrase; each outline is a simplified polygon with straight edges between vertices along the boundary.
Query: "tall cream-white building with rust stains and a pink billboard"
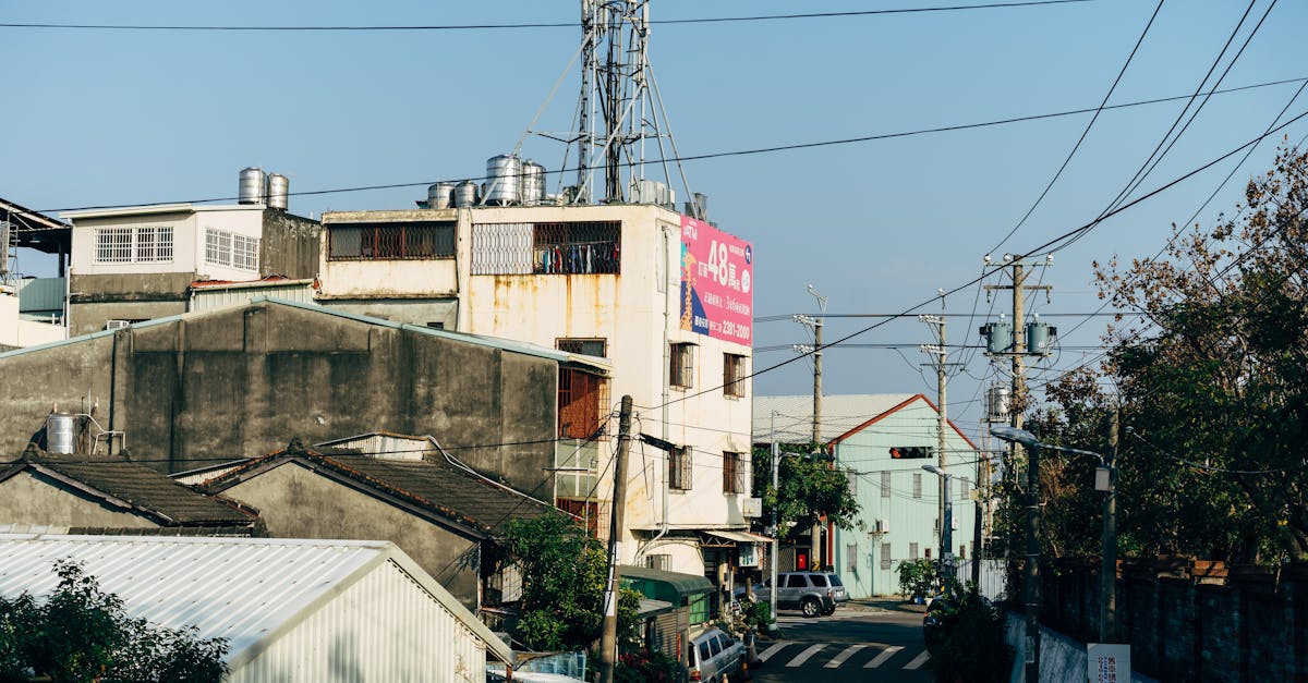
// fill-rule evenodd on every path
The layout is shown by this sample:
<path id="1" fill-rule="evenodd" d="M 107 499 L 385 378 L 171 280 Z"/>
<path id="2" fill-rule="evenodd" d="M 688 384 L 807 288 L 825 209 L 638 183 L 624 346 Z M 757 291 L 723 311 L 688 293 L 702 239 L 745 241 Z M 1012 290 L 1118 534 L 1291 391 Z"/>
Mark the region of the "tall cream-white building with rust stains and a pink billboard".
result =
<path id="1" fill-rule="evenodd" d="M 560 407 L 555 500 L 607 530 L 629 394 L 649 438 L 629 459 L 623 561 L 721 577 L 742 560 L 755 540 L 722 533 L 751 504 L 748 243 L 654 204 L 332 212 L 323 228 L 319 304 L 610 359 L 611 382 L 578 373 L 586 400 Z"/>

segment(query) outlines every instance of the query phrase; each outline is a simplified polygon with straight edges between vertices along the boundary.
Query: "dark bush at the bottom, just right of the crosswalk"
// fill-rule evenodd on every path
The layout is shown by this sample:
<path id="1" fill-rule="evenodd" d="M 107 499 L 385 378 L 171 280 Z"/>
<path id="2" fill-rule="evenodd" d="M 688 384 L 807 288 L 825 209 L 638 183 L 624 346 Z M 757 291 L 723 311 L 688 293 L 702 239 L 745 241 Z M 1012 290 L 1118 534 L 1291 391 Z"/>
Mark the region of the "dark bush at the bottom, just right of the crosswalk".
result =
<path id="1" fill-rule="evenodd" d="M 937 680 L 998 683 L 1008 680 L 1014 649 L 1005 641 L 1003 612 L 985 601 L 974 585 L 951 590 L 940 620 L 940 639 L 927 644 Z"/>

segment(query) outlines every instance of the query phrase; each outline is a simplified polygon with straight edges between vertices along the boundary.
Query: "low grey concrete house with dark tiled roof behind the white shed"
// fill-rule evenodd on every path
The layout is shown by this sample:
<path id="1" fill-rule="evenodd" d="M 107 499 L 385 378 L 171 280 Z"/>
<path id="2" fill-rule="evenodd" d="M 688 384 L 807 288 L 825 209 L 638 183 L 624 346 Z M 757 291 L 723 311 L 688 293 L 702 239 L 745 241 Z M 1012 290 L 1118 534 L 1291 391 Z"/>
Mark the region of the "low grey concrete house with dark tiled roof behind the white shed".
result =
<path id="1" fill-rule="evenodd" d="M 483 564 L 494 536 L 510 519 L 553 509 L 447 454 L 377 455 L 319 453 L 297 440 L 199 489 L 258 509 L 269 536 L 390 540 L 473 611 L 485 602 L 487 580 L 502 585 Z M 490 602 L 500 598 L 489 595 Z"/>

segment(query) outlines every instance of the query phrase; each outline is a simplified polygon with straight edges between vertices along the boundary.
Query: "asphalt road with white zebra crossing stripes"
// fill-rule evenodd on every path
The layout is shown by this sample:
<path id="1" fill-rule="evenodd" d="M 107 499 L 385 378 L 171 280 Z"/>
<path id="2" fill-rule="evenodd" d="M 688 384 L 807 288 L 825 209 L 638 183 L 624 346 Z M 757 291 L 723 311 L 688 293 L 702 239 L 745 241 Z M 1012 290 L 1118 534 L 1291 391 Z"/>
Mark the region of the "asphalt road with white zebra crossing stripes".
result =
<path id="1" fill-rule="evenodd" d="M 756 683 L 933 680 L 921 614 L 842 607 L 816 619 L 781 612 L 777 622 L 781 635 L 757 644 Z"/>

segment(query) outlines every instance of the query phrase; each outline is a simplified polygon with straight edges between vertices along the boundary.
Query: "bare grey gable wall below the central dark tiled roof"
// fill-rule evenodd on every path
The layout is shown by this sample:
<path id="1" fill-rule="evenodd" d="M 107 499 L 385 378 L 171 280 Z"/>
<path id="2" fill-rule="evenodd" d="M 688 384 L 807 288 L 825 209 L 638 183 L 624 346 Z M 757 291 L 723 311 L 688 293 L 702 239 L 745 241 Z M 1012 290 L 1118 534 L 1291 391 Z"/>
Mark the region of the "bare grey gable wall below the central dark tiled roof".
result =
<path id="1" fill-rule="evenodd" d="M 242 482 L 222 495 L 256 508 L 272 538 L 391 540 L 464 607 L 477 608 L 479 542 L 473 538 L 293 462 Z"/>

